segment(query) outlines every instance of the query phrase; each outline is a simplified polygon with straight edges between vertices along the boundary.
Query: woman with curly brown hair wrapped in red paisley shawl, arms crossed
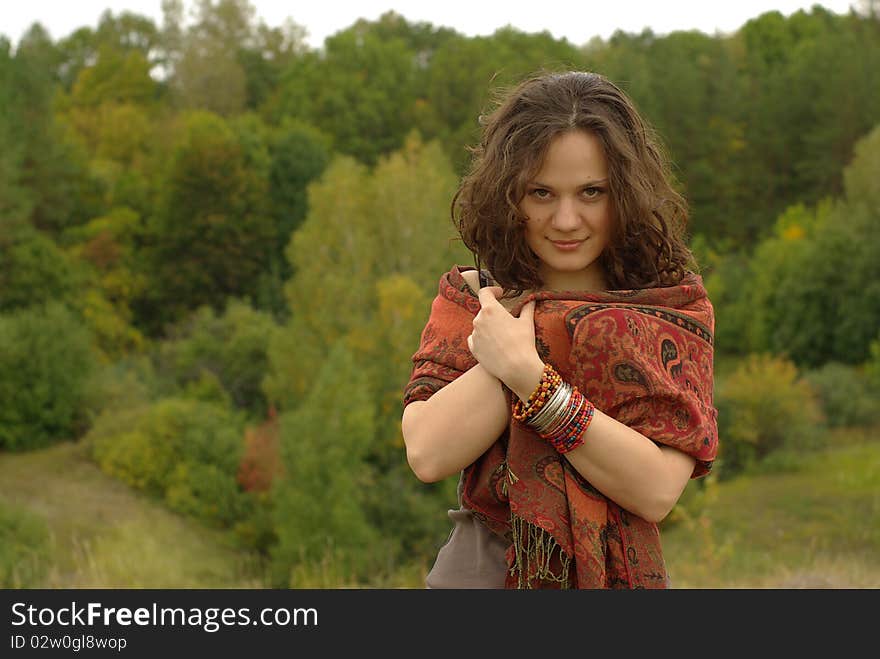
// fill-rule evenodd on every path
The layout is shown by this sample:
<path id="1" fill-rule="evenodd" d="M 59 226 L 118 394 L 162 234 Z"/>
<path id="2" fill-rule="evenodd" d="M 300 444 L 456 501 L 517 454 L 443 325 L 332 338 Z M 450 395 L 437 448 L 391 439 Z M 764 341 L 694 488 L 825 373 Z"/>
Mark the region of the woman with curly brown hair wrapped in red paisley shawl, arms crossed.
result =
<path id="1" fill-rule="evenodd" d="M 452 213 L 477 268 L 440 279 L 402 419 L 420 480 L 460 473 L 427 585 L 668 587 L 657 524 L 717 424 L 713 309 L 658 141 L 604 77 L 533 76 Z"/>

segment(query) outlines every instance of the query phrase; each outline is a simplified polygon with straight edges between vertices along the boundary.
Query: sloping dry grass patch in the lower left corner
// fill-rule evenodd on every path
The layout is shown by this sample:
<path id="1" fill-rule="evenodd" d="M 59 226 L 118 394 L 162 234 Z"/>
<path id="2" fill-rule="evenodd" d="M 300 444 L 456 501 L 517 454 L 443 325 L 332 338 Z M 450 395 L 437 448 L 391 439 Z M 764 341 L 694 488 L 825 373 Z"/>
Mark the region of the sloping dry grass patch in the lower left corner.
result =
<path id="1" fill-rule="evenodd" d="M 46 588 L 257 588 L 227 536 L 103 474 L 81 445 L 0 453 L 0 500 L 47 520 Z"/>

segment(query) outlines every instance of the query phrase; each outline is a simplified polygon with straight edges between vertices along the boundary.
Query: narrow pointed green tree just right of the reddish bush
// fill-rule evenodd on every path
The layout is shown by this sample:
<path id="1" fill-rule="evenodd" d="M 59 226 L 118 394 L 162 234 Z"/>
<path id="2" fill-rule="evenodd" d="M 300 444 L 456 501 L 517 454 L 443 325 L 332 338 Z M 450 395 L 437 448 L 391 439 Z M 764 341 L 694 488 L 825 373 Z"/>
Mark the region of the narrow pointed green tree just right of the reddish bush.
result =
<path id="1" fill-rule="evenodd" d="M 344 343 L 329 351 L 302 405 L 280 417 L 285 477 L 274 491 L 276 587 L 329 560 L 346 581 L 366 581 L 384 557 L 362 493 L 372 486 L 364 457 L 373 444 L 372 392 Z M 299 568 L 297 570 L 297 568 Z"/>

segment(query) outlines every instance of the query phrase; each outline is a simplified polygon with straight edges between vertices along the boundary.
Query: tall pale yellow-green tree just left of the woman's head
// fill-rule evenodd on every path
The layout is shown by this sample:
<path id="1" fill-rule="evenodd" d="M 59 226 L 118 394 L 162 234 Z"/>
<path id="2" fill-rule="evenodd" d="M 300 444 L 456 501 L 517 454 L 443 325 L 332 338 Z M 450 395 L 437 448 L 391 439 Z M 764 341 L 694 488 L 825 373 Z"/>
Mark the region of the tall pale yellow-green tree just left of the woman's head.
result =
<path id="1" fill-rule="evenodd" d="M 287 250 L 291 319 L 270 347 L 267 393 L 279 409 L 295 405 L 330 346 L 368 324 L 376 281 L 402 274 L 432 292 L 453 263 L 470 262 L 453 240 L 454 187 L 440 147 L 415 135 L 372 174 L 338 157 L 309 186 L 309 215 Z"/>

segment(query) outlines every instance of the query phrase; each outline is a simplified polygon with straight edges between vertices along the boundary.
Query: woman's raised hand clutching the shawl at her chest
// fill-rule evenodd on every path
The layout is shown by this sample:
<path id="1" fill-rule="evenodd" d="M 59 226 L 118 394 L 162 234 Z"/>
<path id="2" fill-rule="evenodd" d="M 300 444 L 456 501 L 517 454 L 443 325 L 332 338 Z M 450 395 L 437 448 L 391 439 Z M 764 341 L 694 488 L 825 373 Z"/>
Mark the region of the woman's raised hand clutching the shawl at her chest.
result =
<path id="1" fill-rule="evenodd" d="M 468 348 L 483 368 L 520 398 L 528 398 L 541 379 L 544 363 L 535 348 L 535 302 L 515 318 L 498 301 L 499 286 L 481 288 L 480 312 L 474 318 Z"/>

